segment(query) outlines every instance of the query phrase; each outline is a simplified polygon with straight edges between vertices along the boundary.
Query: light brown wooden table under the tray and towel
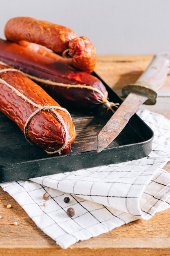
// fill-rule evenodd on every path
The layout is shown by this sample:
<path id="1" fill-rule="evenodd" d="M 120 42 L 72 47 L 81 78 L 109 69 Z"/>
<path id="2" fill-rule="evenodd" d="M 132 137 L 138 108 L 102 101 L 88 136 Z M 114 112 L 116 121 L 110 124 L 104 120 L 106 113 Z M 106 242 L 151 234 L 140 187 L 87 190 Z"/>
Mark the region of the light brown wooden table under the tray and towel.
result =
<path id="1" fill-rule="evenodd" d="M 137 80 L 153 56 L 98 56 L 95 71 L 121 96 L 121 88 Z M 170 77 L 154 106 L 141 106 L 170 119 Z M 170 162 L 164 166 L 170 171 Z M 7 204 L 12 208 L 7 209 Z M 11 196 L 0 189 L 0 256 L 162 256 L 170 255 L 170 209 L 150 220 L 137 220 L 96 238 L 62 249 L 46 236 Z M 18 225 L 13 225 L 17 221 Z"/>

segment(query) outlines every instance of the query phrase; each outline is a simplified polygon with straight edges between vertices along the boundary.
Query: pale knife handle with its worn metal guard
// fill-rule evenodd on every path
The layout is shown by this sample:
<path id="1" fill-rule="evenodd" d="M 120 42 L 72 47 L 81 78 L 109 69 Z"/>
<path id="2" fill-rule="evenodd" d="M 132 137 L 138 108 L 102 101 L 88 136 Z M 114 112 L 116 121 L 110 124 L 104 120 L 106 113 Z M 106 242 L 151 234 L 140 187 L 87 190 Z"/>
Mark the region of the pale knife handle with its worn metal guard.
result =
<path id="1" fill-rule="evenodd" d="M 170 53 L 161 53 L 154 56 L 150 65 L 141 74 L 136 83 L 126 85 L 122 89 L 123 97 L 130 92 L 142 94 L 148 97 L 144 104 L 154 105 L 157 98 L 157 89 L 166 80 L 170 68 Z"/>

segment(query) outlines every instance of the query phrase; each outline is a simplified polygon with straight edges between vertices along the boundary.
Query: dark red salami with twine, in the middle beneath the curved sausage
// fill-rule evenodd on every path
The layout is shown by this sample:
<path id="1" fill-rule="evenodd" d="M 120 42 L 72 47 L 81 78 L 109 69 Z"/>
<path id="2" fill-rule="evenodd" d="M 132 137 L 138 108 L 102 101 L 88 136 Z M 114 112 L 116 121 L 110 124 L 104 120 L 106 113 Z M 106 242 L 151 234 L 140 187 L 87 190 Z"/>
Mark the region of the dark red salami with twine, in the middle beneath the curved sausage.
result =
<path id="1" fill-rule="evenodd" d="M 0 39 L 0 60 L 34 76 L 57 101 L 88 111 L 99 106 L 116 106 L 108 102 L 108 92 L 99 79 L 76 70 L 61 56 L 40 45 L 25 42 L 19 45 Z"/>

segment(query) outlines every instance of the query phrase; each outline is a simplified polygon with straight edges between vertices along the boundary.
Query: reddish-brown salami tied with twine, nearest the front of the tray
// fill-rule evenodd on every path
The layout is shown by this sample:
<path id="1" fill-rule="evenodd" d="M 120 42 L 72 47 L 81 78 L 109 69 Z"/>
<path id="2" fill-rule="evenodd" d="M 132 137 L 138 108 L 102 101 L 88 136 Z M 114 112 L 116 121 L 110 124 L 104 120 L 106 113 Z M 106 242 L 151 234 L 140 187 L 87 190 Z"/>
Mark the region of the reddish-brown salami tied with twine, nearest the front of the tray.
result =
<path id="1" fill-rule="evenodd" d="M 39 85 L 4 63 L 0 63 L 0 110 L 31 143 L 49 154 L 68 153 L 75 139 L 69 112 Z"/>

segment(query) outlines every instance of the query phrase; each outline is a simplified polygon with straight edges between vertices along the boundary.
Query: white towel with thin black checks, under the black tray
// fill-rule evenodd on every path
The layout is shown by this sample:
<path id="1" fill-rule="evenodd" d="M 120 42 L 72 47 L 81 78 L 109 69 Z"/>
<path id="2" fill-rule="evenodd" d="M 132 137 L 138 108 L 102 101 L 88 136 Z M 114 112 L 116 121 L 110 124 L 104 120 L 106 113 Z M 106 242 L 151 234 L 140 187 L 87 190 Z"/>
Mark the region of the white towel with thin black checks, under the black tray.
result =
<path id="1" fill-rule="evenodd" d="M 170 173 L 162 169 L 170 160 L 170 120 L 148 110 L 137 113 L 155 134 L 148 157 L 2 183 L 2 188 L 62 248 L 170 208 Z M 73 217 L 66 213 L 69 207 Z"/>

